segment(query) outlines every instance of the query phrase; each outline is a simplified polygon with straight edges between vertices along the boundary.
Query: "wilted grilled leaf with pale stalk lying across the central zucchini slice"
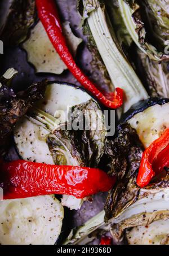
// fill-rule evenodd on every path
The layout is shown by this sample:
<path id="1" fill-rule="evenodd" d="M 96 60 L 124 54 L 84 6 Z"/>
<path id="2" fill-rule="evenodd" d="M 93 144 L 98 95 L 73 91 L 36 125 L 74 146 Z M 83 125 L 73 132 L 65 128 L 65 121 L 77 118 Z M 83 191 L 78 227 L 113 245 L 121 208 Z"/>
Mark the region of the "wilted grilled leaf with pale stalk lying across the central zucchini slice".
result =
<path id="1" fill-rule="evenodd" d="M 104 153 L 106 128 L 104 126 L 103 112 L 93 99 L 86 103 L 82 103 L 81 105 L 72 107 L 69 114 L 71 119 L 64 124 L 59 125 L 57 128 L 55 128 L 57 123 L 56 118 L 39 109 L 34 109 L 33 112 L 35 114 L 35 116 L 33 114 L 33 117 L 45 124 L 66 149 L 68 149 L 69 154 L 72 159 L 74 159 L 72 165 L 87 167 L 98 166 L 100 158 Z M 79 113 L 83 114 L 83 120 L 81 120 L 81 115 Z M 63 127 L 68 127 L 69 123 L 72 127 L 74 122 L 76 124 L 86 124 L 87 129 L 78 129 L 77 131 L 74 131 L 74 129 L 63 129 Z M 81 141 L 80 145 L 79 141 Z M 54 143 L 51 144 L 52 141 L 49 142 L 51 146 L 54 146 Z M 54 150 L 54 155 L 56 159 L 57 150 Z M 61 161 L 65 161 L 61 157 L 59 158 Z"/>

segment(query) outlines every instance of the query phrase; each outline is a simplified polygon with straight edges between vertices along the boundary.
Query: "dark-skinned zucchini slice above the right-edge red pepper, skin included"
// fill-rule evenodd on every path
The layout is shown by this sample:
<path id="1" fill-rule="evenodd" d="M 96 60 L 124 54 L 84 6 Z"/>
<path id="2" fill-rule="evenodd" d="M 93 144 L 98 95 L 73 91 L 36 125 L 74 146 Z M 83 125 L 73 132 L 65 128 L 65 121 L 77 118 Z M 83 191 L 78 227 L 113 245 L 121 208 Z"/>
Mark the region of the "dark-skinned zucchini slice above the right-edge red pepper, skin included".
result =
<path id="1" fill-rule="evenodd" d="M 169 127 L 169 99 L 140 101 L 124 115 L 122 122 L 128 122 L 136 129 L 146 148 Z"/>

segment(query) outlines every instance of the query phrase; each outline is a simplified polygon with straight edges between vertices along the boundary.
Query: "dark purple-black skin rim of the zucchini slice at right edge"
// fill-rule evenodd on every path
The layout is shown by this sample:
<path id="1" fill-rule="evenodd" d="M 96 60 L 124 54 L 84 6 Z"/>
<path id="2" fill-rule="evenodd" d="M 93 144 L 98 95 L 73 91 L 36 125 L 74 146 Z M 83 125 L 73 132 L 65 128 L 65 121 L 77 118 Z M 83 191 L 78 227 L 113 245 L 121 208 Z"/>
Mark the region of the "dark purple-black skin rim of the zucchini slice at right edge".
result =
<path id="1" fill-rule="evenodd" d="M 120 123 L 126 123 L 136 114 L 143 112 L 144 110 L 152 107 L 154 105 L 164 105 L 169 102 L 169 98 L 149 98 L 143 101 L 137 102 L 135 105 L 131 107 L 121 118 Z"/>

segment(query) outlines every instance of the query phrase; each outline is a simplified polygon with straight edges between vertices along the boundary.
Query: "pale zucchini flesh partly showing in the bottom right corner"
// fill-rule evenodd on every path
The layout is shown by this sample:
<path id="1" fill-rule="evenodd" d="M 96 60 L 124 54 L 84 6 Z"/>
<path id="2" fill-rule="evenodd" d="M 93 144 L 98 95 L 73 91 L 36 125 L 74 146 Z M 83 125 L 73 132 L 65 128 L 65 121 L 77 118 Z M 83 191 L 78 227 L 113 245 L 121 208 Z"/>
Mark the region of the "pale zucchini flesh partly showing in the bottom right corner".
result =
<path id="1" fill-rule="evenodd" d="M 148 227 L 132 228 L 126 237 L 130 245 L 169 244 L 169 220 L 158 220 Z"/>

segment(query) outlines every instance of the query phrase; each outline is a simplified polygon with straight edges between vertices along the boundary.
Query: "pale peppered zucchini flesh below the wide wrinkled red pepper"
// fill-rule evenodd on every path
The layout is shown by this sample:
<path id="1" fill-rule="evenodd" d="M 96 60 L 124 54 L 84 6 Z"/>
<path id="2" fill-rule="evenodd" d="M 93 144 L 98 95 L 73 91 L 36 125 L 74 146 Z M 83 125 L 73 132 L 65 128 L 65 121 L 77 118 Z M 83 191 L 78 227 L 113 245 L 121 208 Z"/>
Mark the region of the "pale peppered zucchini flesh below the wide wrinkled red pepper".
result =
<path id="1" fill-rule="evenodd" d="M 54 245 L 64 218 L 54 196 L 0 202 L 0 244 Z"/>

